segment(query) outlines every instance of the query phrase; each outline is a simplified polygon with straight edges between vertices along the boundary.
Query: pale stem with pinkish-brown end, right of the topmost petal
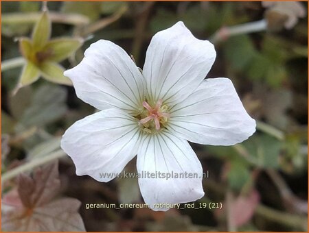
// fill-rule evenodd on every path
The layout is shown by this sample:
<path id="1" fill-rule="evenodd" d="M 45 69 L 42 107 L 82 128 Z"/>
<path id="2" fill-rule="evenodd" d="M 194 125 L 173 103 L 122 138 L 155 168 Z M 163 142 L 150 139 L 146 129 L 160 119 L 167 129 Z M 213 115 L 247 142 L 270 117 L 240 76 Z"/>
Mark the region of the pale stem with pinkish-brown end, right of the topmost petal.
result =
<path id="1" fill-rule="evenodd" d="M 266 28 L 267 22 L 265 19 L 255 22 L 242 23 L 240 25 L 234 25 L 231 27 L 221 27 L 213 36 L 210 37 L 209 40 L 213 43 L 216 43 L 229 38 L 229 36 L 260 32 L 266 30 Z"/>

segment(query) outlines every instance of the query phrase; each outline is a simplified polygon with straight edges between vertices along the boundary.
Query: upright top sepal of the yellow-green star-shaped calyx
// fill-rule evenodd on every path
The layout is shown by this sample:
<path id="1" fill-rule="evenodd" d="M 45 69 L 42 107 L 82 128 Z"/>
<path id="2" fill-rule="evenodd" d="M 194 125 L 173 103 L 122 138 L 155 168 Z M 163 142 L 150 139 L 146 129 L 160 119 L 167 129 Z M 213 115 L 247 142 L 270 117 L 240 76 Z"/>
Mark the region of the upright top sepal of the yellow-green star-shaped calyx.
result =
<path id="1" fill-rule="evenodd" d="M 32 32 L 32 45 L 36 51 L 40 51 L 44 47 L 50 38 L 51 31 L 52 23 L 49 19 L 49 13 L 45 11 L 34 26 Z"/>

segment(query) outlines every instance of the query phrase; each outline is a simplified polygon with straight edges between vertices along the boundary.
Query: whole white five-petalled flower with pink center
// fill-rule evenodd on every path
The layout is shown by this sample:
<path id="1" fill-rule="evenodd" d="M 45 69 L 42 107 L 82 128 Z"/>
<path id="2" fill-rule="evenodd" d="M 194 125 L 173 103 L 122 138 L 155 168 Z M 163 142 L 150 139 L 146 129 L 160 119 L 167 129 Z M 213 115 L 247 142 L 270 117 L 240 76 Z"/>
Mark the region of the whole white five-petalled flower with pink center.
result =
<path id="1" fill-rule="evenodd" d="M 120 173 L 137 154 L 138 173 L 197 173 L 180 179 L 139 178 L 141 195 L 155 204 L 203 197 L 203 169 L 187 140 L 233 145 L 255 132 L 231 81 L 205 79 L 216 51 L 196 39 L 182 22 L 155 34 L 142 73 L 113 42 L 99 40 L 78 66 L 65 71 L 83 101 L 101 110 L 74 123 L 61 147 L 77 175 Z"/>

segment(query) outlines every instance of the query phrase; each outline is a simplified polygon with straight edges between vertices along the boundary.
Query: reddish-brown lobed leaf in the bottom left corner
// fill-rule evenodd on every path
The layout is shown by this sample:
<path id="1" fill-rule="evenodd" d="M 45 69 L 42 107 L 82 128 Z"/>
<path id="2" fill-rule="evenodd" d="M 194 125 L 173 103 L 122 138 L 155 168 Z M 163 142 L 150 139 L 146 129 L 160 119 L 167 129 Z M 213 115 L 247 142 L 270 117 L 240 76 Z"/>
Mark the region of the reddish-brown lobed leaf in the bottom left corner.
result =
<path id="1" fill-rule="evenodd" d="M 58 176 L 58 162 L 36 169 L 33 178 L 19 175 L 17 191 L 14 189 L 3 197 L 2 230 L 85 231 L 78 214 L 80 201 L 73 198 L 51 201 L 60 188 Z"/>

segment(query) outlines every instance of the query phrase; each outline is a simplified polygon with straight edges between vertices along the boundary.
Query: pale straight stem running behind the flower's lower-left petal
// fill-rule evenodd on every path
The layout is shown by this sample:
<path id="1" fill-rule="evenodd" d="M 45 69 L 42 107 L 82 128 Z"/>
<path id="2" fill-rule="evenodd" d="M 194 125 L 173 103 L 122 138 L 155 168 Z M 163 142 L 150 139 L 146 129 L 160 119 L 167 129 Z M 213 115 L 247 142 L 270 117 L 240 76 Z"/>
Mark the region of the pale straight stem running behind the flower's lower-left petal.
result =
<path id="1" fill-rule="evenodd" d="M 37 158 L 35 160 L 31 160 L 30 162 L 27 162 L 26 164 L 23 164 L 19 167 L 16 167 L 15 169 L 12 169 L 10 171 L 3 173 L 2 178 L 1 178 L 1 182 L 3 184 L 3 182 L 16 177 L 20 173 L 23 173 L 25 171 L 30 171 L 30 170 L 34 169 L 34 167 L 41 166 L 41 165 L 43 165 L 47 162 L 51 162 L 52 160 L 56 160 L 58 158 L 66 156 L 66 155 L 67 154 L 65 154 L 65 151 L 62 151 L 62 149 L 58 149 L 58 151 L 54 151 L 53 153 L 49 154 L 48 156 L 44 156 L 43 158 Z"/>

